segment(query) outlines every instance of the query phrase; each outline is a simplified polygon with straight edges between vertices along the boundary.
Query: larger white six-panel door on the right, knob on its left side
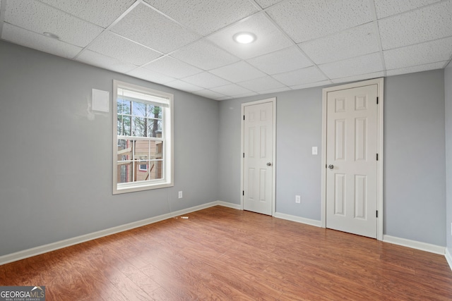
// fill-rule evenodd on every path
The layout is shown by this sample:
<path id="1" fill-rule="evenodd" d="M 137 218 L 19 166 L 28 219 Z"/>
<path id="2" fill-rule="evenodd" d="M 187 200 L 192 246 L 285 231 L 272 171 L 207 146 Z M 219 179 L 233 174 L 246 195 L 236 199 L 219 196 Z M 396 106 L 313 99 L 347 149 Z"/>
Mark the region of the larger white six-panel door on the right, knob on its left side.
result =
<path id="1" fill-rule="evenodd" d="M 377 85 L 328 92 L 326 227 L 376 238 Z"/>

